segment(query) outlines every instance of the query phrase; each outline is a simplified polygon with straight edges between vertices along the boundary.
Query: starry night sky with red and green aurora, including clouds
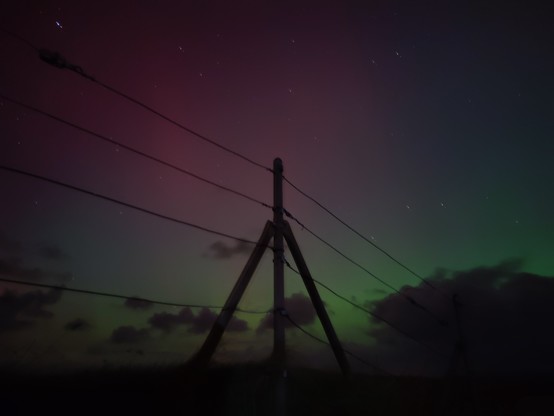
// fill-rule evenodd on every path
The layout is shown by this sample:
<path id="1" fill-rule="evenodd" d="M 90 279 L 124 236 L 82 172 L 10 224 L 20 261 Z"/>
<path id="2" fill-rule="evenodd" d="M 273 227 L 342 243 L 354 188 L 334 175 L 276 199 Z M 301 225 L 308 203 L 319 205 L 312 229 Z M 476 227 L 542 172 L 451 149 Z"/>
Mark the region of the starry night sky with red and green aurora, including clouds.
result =
<path id="1" fill-rule="evenodd" d="M 554 348 L 546 329 L 554 316 L 546 8 L 30 1 L 3 2 L 0 27 L 3 96 L 272 204 L 267 170 L 47 65 L 27 41 L 264 166 L 280 157 L 292 183 L 440 290 L 285 184 L 288 211 L 393 287 L 412 286 L 402 293 L 450 325 L 291 221 L 315 279 L 447 356 L 456 337 L 448 297 L 459 292 L 477 369 L 554 369 L 546 354 Z M 273 215 L 4 98 L 0 165 L 248 240 Z M 7 279 L 218 306 L 252 249 L 13 172 L 0 171 L 0 192 L 0 277 Z M 291 317 L 324 336 L 299 276 L 286 270 L 285 279 Z M 396 373 L 446 370 L 448 358 L 319 289 L 347 348 Z M 268 252 L 240 307 L 271 309 L 272 290 Z M 31 368 L 184 361 L 218 312 L 10 283 L 0 283 L 0 311 L 0 361 Z M 272 333 L 264 322 L 263 314 L 237 313 L 215 358 L 266 357 Z M 287 346 L 292 361 L 332 365 L 328 348 L 297 329 L 287 330 Z"/>

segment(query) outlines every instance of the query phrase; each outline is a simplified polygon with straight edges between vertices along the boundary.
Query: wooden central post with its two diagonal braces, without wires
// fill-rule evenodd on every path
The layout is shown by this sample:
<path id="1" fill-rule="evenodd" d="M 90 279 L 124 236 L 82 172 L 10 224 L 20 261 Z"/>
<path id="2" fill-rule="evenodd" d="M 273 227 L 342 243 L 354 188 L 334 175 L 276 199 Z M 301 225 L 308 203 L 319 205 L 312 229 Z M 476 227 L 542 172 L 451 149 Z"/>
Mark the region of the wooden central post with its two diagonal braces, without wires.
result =
<path id="1" fill-rule="evenodd" d="M 219 313 L 217 320 L 204 344 L 198 353 L 191 360 L 193 364 L 205 366 L 215 352 L 219 341 L 229 324 L 234 311 L 237 309 L 240 299 L 262 258 L 265 249 L 273 238 L 273 353 L 272 365 L 275 375 L 275 416 L 286 415 L 286 349 L 285 349 L 285 323 L 288 319 L 288 312 L 285 308 L 285 282 L 284 282 L 284 240 L 291 250 L 292 257 L 300 271 L 300 276 L 306 286 L 306 290 L 317 312 L 325 335 L 333 349 L 335 358 L 345 376 L 350 374 L 350 365 L 346 359 L 342 345 L 335 333 L 329 315 L 325 310 L 323 301 L 314 284 L 308 266 L 302 256 L 300 247 L 294 238 L 290 225 L 283 218 L 283 162 L 276 158 L 273 161 L 273 222 L 267 222 L 254 248 L 248 262 L 242 270 L 233 290 L 229 294 L 225 306 Z"/>

